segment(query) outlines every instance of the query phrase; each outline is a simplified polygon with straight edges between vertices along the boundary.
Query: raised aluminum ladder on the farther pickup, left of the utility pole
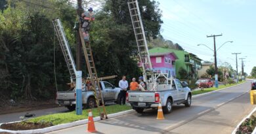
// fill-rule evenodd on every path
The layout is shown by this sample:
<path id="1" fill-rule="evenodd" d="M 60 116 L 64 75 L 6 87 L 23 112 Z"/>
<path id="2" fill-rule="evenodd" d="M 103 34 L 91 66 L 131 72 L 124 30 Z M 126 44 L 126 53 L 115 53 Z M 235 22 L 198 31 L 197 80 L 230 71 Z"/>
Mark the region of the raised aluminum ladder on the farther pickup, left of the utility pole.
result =
<path id="1" fill-rule="evenodd" d="M 66 34 L 62 27 L 62 23 L 60 22 L 60 20 L 58 18 L 53 20 L 53 27 L 54 27 L 54 31 L 56 33 L 56 37 L 58 38 L 58 41 L 60 42 L 60 48 L 64 55 L 65 61 L 68 65 L 68 71 L 70 72 L 71 82 L 75 82 L 75 78 L 76 78 L 75 73 L 77 72 L 75 69 L 75 61 L 72 56 L 72 52 L 70 50 L 70 45 L 68 44 Z"/>

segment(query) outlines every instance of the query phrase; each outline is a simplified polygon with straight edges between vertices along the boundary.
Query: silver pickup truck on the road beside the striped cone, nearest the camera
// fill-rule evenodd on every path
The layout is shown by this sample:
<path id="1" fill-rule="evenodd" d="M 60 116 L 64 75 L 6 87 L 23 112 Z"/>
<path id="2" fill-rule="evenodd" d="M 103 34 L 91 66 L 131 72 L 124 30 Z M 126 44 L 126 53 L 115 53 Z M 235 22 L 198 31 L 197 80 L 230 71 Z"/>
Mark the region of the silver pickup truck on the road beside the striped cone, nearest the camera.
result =
<path id="1" fill-rule="evenodd" d="M 167 78 L 165 75 L 156 77 L 156 89 L 154 91 L 128 91 L 127 105 L 141 113 L 144 109 L 156 109 L 160 103 L 163 112 L 169 113 L 173 104 L 191 105 L 191 91 L 186 82 L 176 78 Z"/>

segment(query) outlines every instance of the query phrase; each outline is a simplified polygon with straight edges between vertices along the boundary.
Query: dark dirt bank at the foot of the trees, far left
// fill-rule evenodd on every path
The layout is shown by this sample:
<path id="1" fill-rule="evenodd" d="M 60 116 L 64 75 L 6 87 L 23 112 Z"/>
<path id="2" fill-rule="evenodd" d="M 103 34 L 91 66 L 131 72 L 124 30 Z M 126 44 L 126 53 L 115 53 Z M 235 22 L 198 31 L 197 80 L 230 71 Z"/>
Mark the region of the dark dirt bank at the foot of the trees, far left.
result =
<path id="1" fill-rule="evenodd" d="M 0 106 L 0 114 L 10 114 L 14 112 L 26 112 L 28 110 L 51 109 L 58 107 L 55 100 L 47 101 L 18 101 L 16 105 Z"/>

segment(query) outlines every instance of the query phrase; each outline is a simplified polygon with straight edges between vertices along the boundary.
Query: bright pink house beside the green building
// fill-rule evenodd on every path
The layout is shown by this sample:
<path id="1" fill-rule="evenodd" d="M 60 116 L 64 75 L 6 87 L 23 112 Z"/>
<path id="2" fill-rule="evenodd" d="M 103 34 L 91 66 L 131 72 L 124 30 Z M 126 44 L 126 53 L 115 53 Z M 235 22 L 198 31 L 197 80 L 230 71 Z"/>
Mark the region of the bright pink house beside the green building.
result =
<path id="1" fill-rule="evenodd" d="M 167 73 L 169 76 L 176 76 L 175 60 L 177 59 L 177 56 L 173 52 L 150 54 L 153 70 L 157 73 Z"/>

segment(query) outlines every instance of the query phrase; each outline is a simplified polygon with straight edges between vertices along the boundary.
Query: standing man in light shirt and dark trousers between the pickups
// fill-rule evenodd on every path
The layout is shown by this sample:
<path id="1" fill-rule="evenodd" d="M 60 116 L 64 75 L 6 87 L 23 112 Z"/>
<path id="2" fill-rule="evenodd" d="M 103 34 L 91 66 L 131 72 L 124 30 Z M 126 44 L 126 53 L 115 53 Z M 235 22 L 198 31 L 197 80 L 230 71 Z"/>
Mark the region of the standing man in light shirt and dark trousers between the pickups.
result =
<path id="1" fill-rule="evenodd" d="M 125 97 L 128 88 L 128 82 L 125 79 L 126 76 L 123 76 L 123 78 L 119 81 L 119 88 L 121 88 L 120 95 L 118 98 L 119 105 L 125 105 Z"/>

